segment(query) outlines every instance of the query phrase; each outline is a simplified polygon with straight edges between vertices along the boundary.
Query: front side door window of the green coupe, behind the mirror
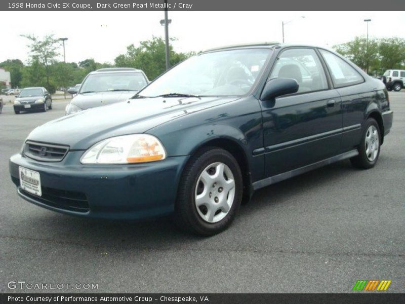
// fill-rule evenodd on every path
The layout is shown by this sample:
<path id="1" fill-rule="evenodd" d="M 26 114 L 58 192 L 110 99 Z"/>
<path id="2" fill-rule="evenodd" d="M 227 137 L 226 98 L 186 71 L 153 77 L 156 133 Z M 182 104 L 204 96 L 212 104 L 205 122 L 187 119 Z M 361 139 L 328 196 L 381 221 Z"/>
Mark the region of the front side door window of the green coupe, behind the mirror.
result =
<path id="1" fill-rule="evenodd" d="M 271 70 L 269 79 L 293 78 L 298 93 L 328 89 L 325 71 L 313 49 L 288 49 L 282 52 Z"/>

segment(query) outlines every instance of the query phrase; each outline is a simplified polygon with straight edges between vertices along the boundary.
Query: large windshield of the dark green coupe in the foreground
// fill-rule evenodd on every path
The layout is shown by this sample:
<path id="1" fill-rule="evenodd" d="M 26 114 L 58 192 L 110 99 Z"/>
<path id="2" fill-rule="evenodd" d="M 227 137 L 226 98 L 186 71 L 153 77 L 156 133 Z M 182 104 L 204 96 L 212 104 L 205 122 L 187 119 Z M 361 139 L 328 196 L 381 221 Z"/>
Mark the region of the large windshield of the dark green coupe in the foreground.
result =
<path id="1" fill-rule="evenodd" d="M 193 56 L 161 75 L 139 95 L 245 95 L 270 53 L 270 49 L 257 48 Z"/>

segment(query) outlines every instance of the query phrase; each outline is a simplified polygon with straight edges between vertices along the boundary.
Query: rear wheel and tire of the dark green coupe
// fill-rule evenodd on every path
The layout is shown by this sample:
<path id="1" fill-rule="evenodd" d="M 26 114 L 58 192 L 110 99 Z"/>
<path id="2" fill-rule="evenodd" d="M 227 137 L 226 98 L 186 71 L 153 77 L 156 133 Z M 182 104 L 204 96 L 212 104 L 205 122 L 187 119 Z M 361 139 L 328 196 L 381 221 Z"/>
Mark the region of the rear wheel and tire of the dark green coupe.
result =
<path id="1" fill-rule="evenodd" d="M 380 155 L 381 133 L 375 119 L 369 118 L 361 136 L 358 155 L 350 159 L 351 164 L 359 169 L 373 168 Z"/>

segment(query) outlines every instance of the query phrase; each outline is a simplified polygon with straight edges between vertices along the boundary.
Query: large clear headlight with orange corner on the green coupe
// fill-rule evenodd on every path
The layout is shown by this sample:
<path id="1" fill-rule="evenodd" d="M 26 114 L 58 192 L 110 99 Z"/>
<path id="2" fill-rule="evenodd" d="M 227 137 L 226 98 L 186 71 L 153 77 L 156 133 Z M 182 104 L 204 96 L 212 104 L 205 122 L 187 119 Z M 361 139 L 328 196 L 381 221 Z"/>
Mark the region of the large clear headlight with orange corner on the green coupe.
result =
<path id="1" fill-rule="evenodd" d="M 133 134 L 105 139 L 93 145 L 80 159 L 82 164 L 132 164 L 164 160 L 160 141 L 148 134 Z"/>

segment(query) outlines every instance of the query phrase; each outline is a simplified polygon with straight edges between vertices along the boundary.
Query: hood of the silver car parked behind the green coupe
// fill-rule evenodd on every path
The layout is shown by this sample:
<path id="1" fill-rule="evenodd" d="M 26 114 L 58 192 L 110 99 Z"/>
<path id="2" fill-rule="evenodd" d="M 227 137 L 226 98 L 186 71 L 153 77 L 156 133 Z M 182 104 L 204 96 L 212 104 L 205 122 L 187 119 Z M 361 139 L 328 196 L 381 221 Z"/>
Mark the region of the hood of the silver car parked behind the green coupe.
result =
<path id="1" fill-rule="evenodd" d="M 136 93 L 136 91 L 112 91 L 78 94 L 72 99 L 71 103 L 77 105 L 81 109 L 88 109 L 124 101 L 131 98 Z"/>

